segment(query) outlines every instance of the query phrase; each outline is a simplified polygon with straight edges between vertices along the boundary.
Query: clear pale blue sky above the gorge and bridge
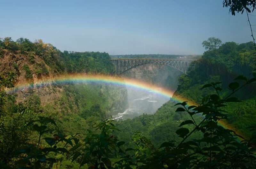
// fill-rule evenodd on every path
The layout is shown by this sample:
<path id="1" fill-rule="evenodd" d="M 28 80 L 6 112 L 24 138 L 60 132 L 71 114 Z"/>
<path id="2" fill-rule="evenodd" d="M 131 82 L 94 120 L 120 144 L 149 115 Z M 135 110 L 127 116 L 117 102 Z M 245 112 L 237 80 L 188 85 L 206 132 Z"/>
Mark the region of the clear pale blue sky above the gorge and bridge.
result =
<path id="1" fill-rule="evenodd" d="M 222 0 L 0 0 L 0 16 L 0 38 L 42 39 L 61 51 L 202 54 L 209 37 L 252 41 L 246 14 L 232 16 Z"/>

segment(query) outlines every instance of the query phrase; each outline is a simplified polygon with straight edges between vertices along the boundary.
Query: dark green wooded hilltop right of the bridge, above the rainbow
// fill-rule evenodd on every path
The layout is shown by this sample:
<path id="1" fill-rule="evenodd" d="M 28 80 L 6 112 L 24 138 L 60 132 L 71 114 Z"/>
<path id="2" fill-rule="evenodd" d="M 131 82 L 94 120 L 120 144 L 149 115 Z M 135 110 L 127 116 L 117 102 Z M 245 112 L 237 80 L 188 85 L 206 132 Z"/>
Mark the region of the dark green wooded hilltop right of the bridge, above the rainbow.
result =
<path id="1" fill-rule="evenodd" d="M 188 94 L 191 88 L 200 88 L 209 81 L 222 81 L 223 86 L 229 84 L 237 75 L 249 76 L 256 68 L 256 51 L 253 43 L 237 44 L 227 42 L 219 48 L 205 51 L 202 58 L 192 62 L 187 75 L 179 78 L 176 94 L 182 94 L 191 100 L 200 102 L 202 97 Z M 255 87 L 250 85 L 240 92 L 242 98 L 256 95 Z"/>

